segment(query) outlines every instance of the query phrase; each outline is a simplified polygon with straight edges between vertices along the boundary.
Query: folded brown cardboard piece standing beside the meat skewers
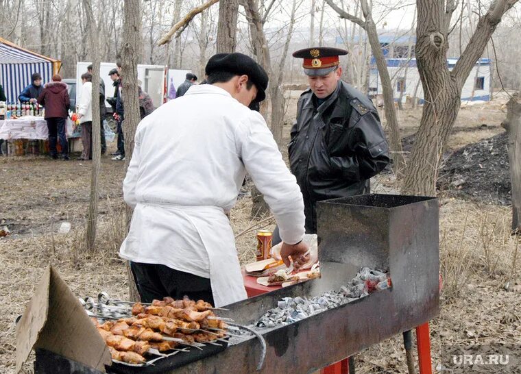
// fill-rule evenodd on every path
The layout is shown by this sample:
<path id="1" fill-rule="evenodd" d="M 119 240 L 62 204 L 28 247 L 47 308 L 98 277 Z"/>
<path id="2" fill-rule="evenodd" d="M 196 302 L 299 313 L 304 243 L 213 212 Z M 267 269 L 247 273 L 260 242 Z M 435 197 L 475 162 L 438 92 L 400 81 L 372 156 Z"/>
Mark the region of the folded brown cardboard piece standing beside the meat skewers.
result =
<path id="1" fill-rule="evenodd" d="M 49 266 L 16 325 L 16 373 L 33 348 L 105 372 L 110 351 L 73 292 Z"/>

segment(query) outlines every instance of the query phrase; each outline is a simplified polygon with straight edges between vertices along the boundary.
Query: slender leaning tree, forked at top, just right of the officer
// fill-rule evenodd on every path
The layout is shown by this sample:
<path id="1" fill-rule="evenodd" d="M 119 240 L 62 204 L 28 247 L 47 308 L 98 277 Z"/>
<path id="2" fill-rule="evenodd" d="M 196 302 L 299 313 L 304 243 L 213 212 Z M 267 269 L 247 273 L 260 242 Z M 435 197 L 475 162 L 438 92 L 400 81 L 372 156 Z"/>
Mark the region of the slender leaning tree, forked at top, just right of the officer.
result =
<path id="1" fill-rule="evenodd" d="M 391 84 L 391 77 L 389 76 L 389 71 L 387 70 L 387 62 L 385 61 L 382 47 L 380 46 L 380 41 L 378 40 L 378 30 L 376 29 L 376 23 L 374 23 L 372 17 L 372 9 L 371 7 L 369 7 L 369 3 L 367 3 L 367 0 L 360 0 L 361 10 L 364 16 L 363 20 L 339 8 L 333 2 L 333 0 L 325 1 L 326 3 L 328 3 L 328 5 L 330 5 L 330 7 L 333 10 L 335 10 L 335 12 L 337 12 L 337 14 L 339 14 L 341 18 L 347 18 L 349 21 L 356 23 L 357 25 L 365 29 L 365 32 L 367 33 L 369 45 L 371 45 L 371 50 L 376 60 L 376 67 L 378 68 L 380 81 L 382 82 L 385 119 L 387 120 L 387 125 L 389 127 L 389 142 L 391 145 L 394 170 L 396 175 L 400 176 L 405 166 L 404 156 L 402 153 L 402 138 L 400 136 L 400 127 L 398 127 L 396 109 L 394 108 L 393 86 Z"/>

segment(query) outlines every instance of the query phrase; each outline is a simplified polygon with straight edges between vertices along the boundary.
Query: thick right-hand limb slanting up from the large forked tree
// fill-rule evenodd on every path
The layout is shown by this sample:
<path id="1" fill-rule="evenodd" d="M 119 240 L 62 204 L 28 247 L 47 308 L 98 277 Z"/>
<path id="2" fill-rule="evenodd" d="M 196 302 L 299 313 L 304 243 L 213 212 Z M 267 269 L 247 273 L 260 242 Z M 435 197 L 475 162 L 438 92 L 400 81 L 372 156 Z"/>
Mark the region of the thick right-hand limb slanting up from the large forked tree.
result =
<path id="1" fill-rule="evenodd" d="M 463 51 L 461 57 L 456 62 L 456 66 L 451 71 L 452 77 L 458 79 L 460 84 L 465 82 L 470 71 L 472 71 L 472 67 L 474 67 L 478 58 L 483 54 L 485 47 L 487 47 L 487 42 L 501 21 L 502 15 L 518 1 L 519 0 L 494 1 L 490 5 L 487 13 L 479 18 L 474 34 L 472 34 L 467 47 L 465 47 L 465 51 Z"/>

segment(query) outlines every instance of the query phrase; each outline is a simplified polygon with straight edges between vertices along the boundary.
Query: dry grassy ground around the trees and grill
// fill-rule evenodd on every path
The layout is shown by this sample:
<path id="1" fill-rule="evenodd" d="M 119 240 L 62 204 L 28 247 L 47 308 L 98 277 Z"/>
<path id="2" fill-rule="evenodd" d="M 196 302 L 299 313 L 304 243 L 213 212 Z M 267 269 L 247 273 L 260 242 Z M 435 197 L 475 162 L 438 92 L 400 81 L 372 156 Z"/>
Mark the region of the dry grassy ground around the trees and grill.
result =
<path id="1" fill-rule="evenodd" d="M 291 97 L 286 136 L 298 96 Z M 450 150 L 502 133 L 499 125 L 505 113 L 500 108 L 505 101 L 463 108 L 451 136 Z M 406 144 L 420 116 L 420 110 L 400 112 Z M 114 143 L 110 147 L 114 148 Z M 125 235 L 123 162 L 104 156 L 101 165 L 99 252 L 90 254 L 83 240 L 90 164 L 77 160 L 58 162 L 43 156 L 0 158 L 0 225 L 12 231 L 11 236 L 0 239 L 0 373 L 14 373 L 14 320 L 32 297 L 47 264 L 56 266 L 78 297 L 106 291 L 112 297 L 128 299 L 125 266 L 117 256 Z M 391 174 L 378 176 L 373 186 L 378 192 L 399 189 Z M 509 207 L 498 205 L 494 199 L 469 200 L 446 192 L 441 197 L 440 270 L 444 288 L 441 314 L 431 323 L 434 367 L 444 356 L 446 345 L 521 343 L 521 285 L 517 284 L 520 261 L 517 239 L 509 232 Z M 272 221 L 259 223 L 263 217 L 252 219 L 251 210 L 251 199 L 245 195 L 231 215 L 242 264 L 254 259 L 255 230 L 273 227 Z M 71 232 L 58 234 L 58 227 L 65 221 L 71 223 Z M 356 369 L 357 373 L 406 373 L 401 338 L 386 340 L 357 354 Z M 30 362 L 24 371 L 32 372 Z"/>

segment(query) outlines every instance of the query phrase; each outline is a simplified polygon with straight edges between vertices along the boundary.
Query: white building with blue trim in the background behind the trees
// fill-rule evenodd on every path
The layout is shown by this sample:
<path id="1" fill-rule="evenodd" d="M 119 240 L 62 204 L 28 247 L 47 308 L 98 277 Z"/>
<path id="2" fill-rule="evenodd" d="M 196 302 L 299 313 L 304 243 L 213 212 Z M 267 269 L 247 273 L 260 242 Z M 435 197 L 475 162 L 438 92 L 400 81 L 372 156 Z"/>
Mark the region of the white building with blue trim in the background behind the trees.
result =
<path id="1" fill-rule="evenodd" d="M 414 97 L 414 92 L 417 88 L 416 97 L 423 99 L 423 88 L 420 82 L 420 75 L 416 68 L 416 59 L 412 58 L 387 58 L 387 69 L 391 76 L 391 81 L 394 90 L 394 99 L 398 101 L 400 97 L 400 91 L 403 90 L 402 101 L 405 101 L 406 97 Z M 447 64 L 449 70 L 452 70 L 456 65 L 456 58 L 449 58 Z M 405 68 L 407 66 L 407 80 L 405 79 Z M 482 58 L 478 60 L 472 71 L 470 72 L 463 90 L 461 91 L 461 101 L 476 101 L 490 100 L 490 85 L 491 83 L 491 69 L 492 62 L 488 58 Z M 402 85 L 403 88 L 402 88 Z M 380 82 L 380 76 L 374 64 L 374 58 L 369 71 L 369 95 L 382 95 L 382 83 Z M 421 100 L 423 101 L 423 100 Z"/>

